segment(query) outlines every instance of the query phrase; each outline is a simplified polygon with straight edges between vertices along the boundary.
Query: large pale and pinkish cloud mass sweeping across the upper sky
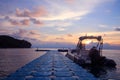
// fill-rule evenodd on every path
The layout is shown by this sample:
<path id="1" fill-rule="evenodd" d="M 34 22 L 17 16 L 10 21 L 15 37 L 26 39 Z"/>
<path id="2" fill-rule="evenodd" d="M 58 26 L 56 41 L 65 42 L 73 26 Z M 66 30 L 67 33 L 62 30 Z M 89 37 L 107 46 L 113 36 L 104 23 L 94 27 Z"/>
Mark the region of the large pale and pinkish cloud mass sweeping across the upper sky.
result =
<path id="1" fill-rule="evenodd" d="M 11 26 L 53 26 L 58 31 L 65 31 L 73 24 L 74 20 L 81 20 L 96 6 L 106 1 L 108 0 L 65 0 L 63 2 L 61 0 L 45 0 L 44 6 L 16 8 L 14 14 L 6 16 L 5 19 Z"/>

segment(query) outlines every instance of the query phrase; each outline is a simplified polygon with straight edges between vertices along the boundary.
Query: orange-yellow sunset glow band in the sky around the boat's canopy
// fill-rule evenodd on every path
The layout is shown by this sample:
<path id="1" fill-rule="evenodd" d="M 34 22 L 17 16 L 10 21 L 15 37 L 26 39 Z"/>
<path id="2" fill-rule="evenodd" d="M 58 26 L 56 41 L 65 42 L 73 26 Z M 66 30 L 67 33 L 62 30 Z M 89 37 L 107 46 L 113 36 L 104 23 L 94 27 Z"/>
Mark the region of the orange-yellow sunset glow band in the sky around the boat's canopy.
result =
<path id="1" fill-rule="evenodd" d="M 69 42 L 77 44 L 80 36 L 85 36 L 86 32 L 84 33 L 73 33 L 71 34 L 59 34 L 59 35 L 47 35 L 44 39 L 45 41 L 52 41 L 52 42 Z M 104 35 L 105 34 L 105 35 Z M 74 36 L 73 36 L 74 35 Z M 120 32 L 119 31 L 109 31 L 109 32 L 89 32 L 87 33 L 88 36 L 102 36 L 104 43 L 108 44 L 119 44 L 120 45 Z M 71 37 L 70 37 L 71 36 Z M 63 40 L 64 38 L 64 40 Z M 96 40 L 93 40 L 96 42 Z"/>

